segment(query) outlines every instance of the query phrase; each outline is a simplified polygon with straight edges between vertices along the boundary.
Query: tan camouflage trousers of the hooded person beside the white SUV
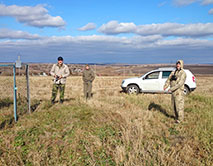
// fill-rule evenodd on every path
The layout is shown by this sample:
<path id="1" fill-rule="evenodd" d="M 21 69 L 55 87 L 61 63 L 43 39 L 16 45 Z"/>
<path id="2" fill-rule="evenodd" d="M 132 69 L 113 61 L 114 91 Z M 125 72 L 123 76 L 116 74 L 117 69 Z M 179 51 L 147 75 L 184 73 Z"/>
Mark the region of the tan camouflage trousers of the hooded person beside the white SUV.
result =
<path id="1" fill-rule="evenodd" d="M 184 119 L 184 94 L 177 91 L 172 94 L 172 106 L 175 112 L 175 119 L 183 121 Z"/>

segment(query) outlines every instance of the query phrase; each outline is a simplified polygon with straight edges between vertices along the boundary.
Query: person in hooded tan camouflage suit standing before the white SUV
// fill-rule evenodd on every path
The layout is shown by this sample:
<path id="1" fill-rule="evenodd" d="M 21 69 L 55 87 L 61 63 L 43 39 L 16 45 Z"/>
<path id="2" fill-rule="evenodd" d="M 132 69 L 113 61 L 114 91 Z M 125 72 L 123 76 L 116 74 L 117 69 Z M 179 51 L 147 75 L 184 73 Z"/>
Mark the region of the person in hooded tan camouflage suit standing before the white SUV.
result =
<path id="1" fill-rule="evenodd" d="M 186 73 L 183 70 L 183 61 L 176 62 L 176 70 L 173 71 L 167 79 L 164 90 L 169 86 L 169 92 L 172 93 L 172 106 L 175 112 L 175 122 L 180 123 L 184 119 L 184 83 Z"/>

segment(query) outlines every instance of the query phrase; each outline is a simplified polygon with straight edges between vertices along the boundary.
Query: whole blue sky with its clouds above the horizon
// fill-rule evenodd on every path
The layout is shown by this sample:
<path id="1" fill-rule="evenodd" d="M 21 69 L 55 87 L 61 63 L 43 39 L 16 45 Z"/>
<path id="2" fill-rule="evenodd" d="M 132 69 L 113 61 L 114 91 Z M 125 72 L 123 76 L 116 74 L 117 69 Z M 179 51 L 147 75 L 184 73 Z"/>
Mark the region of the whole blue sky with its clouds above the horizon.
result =
<path id="1" fill-rule="evenodd" d="M 213 0 L 0 0 L 0 62 L 213 63 Z"/>

